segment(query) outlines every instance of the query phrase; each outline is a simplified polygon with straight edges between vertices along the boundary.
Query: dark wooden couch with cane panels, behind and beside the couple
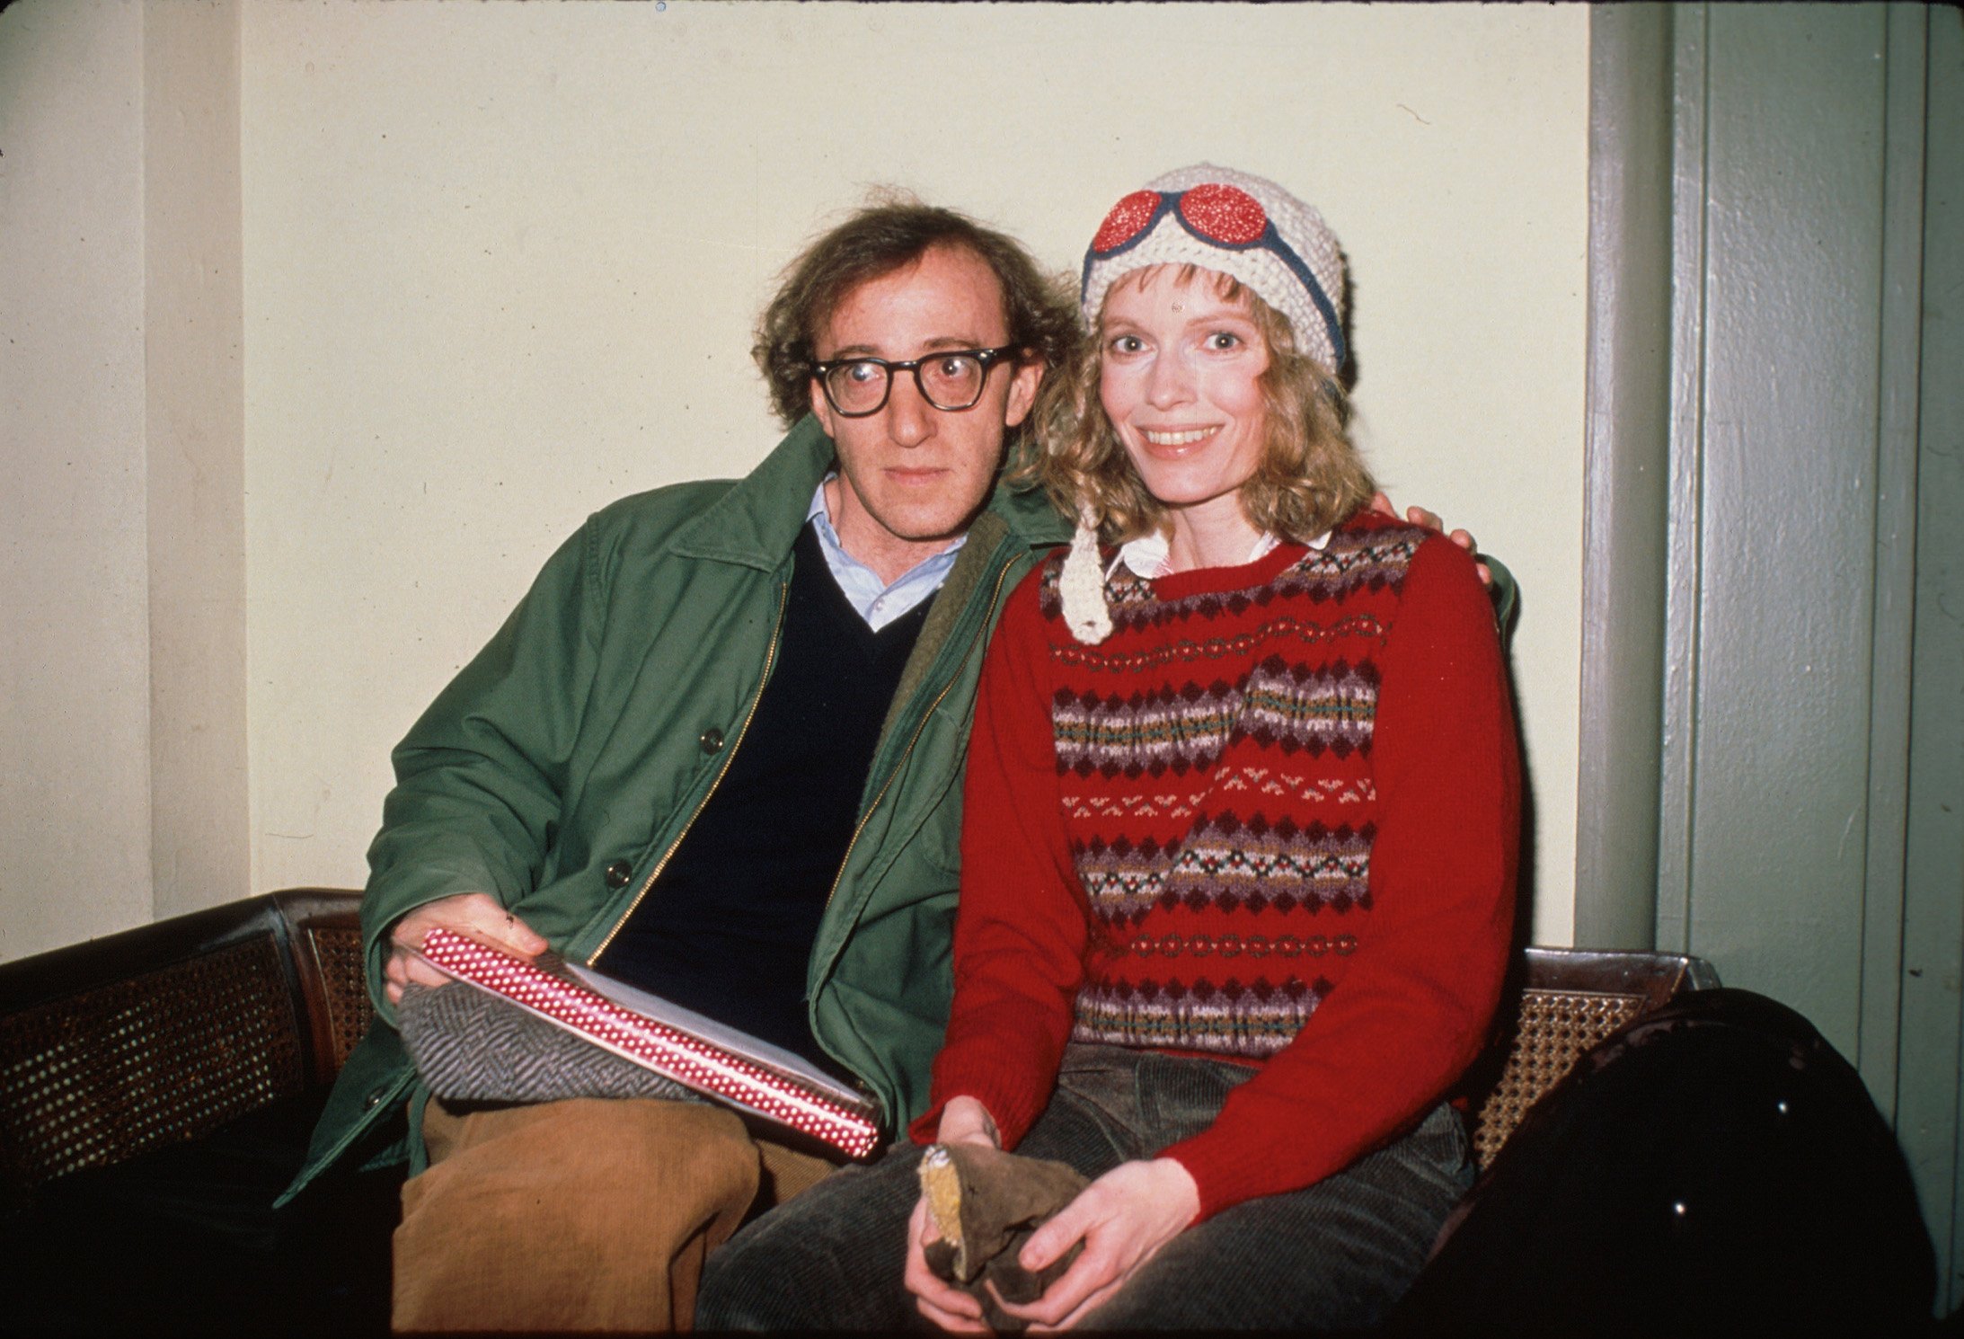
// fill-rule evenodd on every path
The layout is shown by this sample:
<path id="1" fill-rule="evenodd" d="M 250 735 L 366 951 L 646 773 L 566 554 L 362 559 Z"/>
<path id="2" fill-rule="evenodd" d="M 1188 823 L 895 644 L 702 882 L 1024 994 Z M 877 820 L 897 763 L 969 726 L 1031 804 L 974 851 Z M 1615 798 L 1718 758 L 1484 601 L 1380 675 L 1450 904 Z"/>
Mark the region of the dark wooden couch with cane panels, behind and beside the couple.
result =
<path id="1" fill-rule="evenodd" d="M 357 905 L 267 893 L 0 966 L 14 1327 L 385 1331 L 401 1176 L 344 1170 L 271 1209 L 373 1013 Z M 1481 1166 L 1583 1052 L 1707 986 L 1697 958 L 1528 948 L 1473 1074 Z"/>

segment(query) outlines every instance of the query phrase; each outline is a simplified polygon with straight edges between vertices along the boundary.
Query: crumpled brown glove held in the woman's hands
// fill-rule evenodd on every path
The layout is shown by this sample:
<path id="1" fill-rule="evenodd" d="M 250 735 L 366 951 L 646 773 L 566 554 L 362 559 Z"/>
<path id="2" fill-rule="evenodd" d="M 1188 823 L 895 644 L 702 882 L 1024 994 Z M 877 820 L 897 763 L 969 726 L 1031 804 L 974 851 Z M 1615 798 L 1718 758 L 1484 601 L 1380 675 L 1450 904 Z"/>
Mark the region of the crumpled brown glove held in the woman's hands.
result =
<path id="1" fill-rule="evenodd" d="M 1029 1235 L 1076 1200 L 1090 1182 L 1064 1162 L 1023 1158 L 982 1145 L 935 1145 L 921 1156 L 921 1194 L 941 1241 L 927 1245 L 927 1268 L 982 1304 L 990 1329 L 1015 1331 L 1023 1321 L 1006 1315 L 986 1284 L 1004 1302 L 1035 1302 L 1078 1259 L 1076 1243 L 1031 1272 L 1017 1262 Z"/>

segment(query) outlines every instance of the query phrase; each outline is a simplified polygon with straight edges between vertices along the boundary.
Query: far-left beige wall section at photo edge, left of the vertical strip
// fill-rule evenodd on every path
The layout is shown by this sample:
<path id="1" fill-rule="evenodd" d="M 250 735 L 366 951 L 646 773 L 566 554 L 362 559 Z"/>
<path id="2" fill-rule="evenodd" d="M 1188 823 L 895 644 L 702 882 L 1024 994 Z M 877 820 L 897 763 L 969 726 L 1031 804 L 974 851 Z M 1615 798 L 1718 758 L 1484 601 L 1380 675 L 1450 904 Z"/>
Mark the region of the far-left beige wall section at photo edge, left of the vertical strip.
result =
<path id="1" fill-rule="evenodd" d="M 143 16 L 0 14 L 0 956 L 151 917 Z"/>

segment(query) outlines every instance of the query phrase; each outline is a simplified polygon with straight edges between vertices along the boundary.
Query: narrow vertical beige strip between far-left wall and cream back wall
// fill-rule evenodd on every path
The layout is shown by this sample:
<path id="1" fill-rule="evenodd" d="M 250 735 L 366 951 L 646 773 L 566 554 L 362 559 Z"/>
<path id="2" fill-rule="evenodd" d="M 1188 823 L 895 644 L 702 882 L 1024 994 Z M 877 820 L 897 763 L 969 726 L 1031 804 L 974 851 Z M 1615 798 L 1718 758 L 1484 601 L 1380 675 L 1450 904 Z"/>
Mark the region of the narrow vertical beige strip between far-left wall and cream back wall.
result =
<path id="1" fill-rule="evenodd" d="M 151 915 L 249 887 L 240 14 L 143 8 Z"/>

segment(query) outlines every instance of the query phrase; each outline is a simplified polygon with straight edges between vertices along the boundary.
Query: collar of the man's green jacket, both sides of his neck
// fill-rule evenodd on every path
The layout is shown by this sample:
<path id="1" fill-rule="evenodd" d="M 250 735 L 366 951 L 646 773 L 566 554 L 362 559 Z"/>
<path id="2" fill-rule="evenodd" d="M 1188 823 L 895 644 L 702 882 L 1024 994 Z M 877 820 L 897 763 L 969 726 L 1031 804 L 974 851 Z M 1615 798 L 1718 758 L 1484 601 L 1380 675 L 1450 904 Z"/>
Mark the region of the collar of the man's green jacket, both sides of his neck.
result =
<path id="1" fill-rule="evenodd" d="M 756 469 L 676 534 L 676 552 L 776 571 L 797 542 L 811 493 L 833 459 L 833 440 L 805 414 Z M 1070 526 L 1041 489 L 1015 489 L 998 479 L 984 510 L 1000 516 L 1008 534 L 1029 548 L 1070 540 Z"/>

